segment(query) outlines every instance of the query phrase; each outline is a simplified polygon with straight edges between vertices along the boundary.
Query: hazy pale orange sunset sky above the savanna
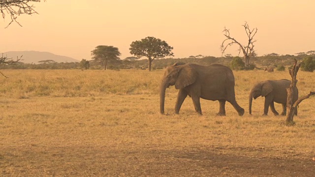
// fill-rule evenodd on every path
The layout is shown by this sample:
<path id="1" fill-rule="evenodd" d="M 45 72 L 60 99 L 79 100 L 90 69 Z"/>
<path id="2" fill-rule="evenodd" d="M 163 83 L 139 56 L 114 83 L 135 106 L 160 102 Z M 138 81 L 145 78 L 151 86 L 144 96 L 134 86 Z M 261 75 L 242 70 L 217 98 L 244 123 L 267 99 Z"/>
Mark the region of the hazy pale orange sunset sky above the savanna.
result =
<path id="1" fill-rule="evenodd" d="M 315 50 L 314 0 L 47 0 L 34 5 L 39 14 L 18 17 L 23 27 L 14 23 L 5 29 L 10 18 L 2 19 L 0 52 L 43 51 L 90 60 L 97 45 L 110 45 L 125 59 L 132 56 L 132 41 L 154 36 L 174 47 L 174 58 L 220 57 L 224 27 L 245 43 L 245 21 L 258 29 L 258 56 Z M 237 49 L 227 53 L 236 56 Z"/>

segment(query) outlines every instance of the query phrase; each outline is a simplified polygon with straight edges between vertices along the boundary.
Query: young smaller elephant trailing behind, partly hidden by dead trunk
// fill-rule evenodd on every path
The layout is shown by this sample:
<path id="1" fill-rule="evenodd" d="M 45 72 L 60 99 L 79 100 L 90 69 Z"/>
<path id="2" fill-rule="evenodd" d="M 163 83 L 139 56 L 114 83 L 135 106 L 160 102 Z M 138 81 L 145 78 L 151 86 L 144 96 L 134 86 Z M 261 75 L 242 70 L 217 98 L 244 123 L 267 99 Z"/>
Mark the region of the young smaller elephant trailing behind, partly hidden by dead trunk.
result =
<path id="1" fill-rule="evenodd" d="M 255 84 L 252 87 L 249 98 L 249 113 L 252 114 L 252 98 L 256 99 L 259 96 L 265 97 L 264 114 L 268 114 L 268 107 L 274 115 L 279 115 L 275 109 L 274 102 L 282 104 L 283 111 L 281 115 L 286 115 L 286 88 L 290 87 L 291 81 L 287 79 L 282 80 L 268 80 Z M 293 102 L 299 97 L 299 91 L 297 88 L 293 91 Z M 297 115 L 297 109 L 295 110 Z"/>

